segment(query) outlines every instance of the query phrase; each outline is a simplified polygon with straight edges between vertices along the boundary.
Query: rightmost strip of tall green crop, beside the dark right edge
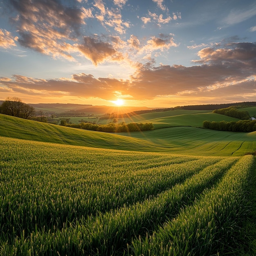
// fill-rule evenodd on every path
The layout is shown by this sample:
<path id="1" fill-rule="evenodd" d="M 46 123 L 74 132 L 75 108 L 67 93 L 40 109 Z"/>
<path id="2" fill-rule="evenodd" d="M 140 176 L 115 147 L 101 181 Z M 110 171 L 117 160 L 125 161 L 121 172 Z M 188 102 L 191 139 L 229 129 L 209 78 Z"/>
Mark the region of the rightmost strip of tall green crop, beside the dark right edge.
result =
<path id="1" fill-rule="evenodd" d="M 247 211 L 248 176 L 255 168 L 254 161 L 253 156 L 242 157 L 218 186 L 204 191 L 195 204 L 182 209 L 152 235 L 135 238 L 130 255 L 230 254 L 232 237 L 238 234 L 236 229 Z"/>

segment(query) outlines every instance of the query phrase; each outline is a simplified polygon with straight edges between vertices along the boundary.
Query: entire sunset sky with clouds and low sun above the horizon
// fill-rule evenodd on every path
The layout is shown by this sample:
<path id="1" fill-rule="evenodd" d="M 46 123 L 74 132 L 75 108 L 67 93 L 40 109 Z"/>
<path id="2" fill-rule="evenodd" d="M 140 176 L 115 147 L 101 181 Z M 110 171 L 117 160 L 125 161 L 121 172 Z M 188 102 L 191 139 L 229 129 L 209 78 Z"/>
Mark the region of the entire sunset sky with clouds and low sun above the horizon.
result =
<path id="1" fill-rule="evenodd" d="M 0 0 L 0 100 L 256 101 L 255 0 Z"/>

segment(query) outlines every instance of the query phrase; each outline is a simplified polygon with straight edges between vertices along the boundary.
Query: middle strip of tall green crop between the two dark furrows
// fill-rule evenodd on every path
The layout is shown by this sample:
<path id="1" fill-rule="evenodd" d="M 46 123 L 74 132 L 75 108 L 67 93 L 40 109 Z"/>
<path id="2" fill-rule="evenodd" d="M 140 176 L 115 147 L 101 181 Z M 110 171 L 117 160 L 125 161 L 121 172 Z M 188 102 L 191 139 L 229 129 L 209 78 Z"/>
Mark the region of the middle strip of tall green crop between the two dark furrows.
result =
<path id="1" fill-rule="evenodd" d="M 145 235 L 175 217 L 181 207 L 192 204 L 199 193 L 218 182 L 235 162 L 236 159 L 223 159 L 156 198 L 80 220 L 71 227 L 65 226 L 57 235 L 38 232 L 27 243 L 19 244 L 17 240 L 16 247 L 26 253 L 33 243 L 34 254 L 47 255 L 54 250 L 61 255 L 123 255 L 135 234 Z M 40 250 L 42 243 L 44 250 Z M 63 243 L 67 247 L 63 248 Z"/>

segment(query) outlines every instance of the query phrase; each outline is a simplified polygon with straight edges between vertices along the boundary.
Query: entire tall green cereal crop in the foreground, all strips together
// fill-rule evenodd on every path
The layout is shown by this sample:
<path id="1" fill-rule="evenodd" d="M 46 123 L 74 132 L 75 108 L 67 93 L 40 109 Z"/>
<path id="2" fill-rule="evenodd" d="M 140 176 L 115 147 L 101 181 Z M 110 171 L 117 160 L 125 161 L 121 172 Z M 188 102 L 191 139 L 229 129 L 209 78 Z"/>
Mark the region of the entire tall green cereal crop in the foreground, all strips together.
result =
<path id="1" fill-rule="evenodd" d="M 204 255 L 203 241 L 215 252 L 252 164 L 0 137 L 0 254 Z"/>

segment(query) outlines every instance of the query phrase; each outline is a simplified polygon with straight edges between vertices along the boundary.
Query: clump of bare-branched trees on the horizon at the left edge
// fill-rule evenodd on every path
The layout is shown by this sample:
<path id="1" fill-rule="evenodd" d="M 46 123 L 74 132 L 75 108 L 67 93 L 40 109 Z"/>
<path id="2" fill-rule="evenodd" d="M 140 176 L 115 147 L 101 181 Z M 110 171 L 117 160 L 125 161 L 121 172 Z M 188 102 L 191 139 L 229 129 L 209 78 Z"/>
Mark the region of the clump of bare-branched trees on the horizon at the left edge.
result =
<path id="1" fill-rule="evenodd" d="M 34 108 L 25 104 L 17 97 L 8 97 L 1 105 L 4 115 L 29 119 L 34 114 Z"/>

